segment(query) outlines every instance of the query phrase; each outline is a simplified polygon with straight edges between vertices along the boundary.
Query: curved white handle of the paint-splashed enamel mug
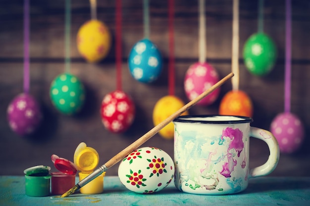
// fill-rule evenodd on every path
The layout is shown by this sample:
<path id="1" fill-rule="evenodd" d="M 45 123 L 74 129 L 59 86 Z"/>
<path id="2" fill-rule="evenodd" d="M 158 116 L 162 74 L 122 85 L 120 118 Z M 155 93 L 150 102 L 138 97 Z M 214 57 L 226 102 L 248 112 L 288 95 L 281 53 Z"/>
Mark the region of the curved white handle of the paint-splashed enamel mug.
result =
<path id="1" fill-rule="evenodd" d="M 279 162 L 279 145 L 273 134 L 267 130 L 257 127 L 250 127 L 250 136 L 263 140 L 269 148 L 269 157 L 265 164 L 255 167 L 250 170 L 249 177 L 259 177 L 270 174 Z"/>

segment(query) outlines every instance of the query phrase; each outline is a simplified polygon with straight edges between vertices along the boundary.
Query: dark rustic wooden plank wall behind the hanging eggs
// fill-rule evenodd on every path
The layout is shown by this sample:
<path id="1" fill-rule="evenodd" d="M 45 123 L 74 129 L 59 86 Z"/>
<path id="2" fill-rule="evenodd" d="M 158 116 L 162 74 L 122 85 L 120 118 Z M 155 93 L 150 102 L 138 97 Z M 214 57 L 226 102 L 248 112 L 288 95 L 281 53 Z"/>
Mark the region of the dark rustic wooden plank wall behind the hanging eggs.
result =
<path id="1" fill-rule="evenodd" d="M 198 1 L 175 0 L 176 96 L 186 99 L 183 80 L 189 66 L 198 61 Z M 101 123 L 103 96 L 116 88 L 114 44 L 108 56 L 98 64 L 87 63 L 76 47 L 79 27 L 90 19 L 88 0 L 72 0 L 71 73 L 87 90 L 86 105 L 74 117 L 59 114 L 52 106 L 49 88 L 52 80 L 64 72 L 64 0 L 31 0 L 31 94 L 41 103 L 44 122 L 31 138 L 13 133 L 7 123 L 9 102 L 23 90 L 23 1 L 0 1 L 0 175 L 22 175 L 34 165 L 50 165 L 52 154 L 73 160 L 76 146 L 84 141 L 100 154 L 102 165 L 120 150 L 153 127 L 152 112 L 159 98 L 168 94 L 168 18 L 167 1 L 150 0 L 150 39 L 164 57 L 164 71 L 153 84 L 135 81 L 129 74 L 127 57 L 136 41 L 143 38 L 142 0 L 123 0 L 123 90 L 136 105 L 133 126 L 123 134 L 108 132 Z M 292 0 L 292 101 L 291 111 L 305 124 L 302 148 L 292 155 L 281 154 L 278 167 L 270 175 L 308 176 L 310 158 L 310 1 Z M 254 103 L 253 126 L 269 129 L 272 119 L 284 111 L 285 1 L 266 0 L 264 31 L 275 41 L 278 58 L 266 77 L 255 77 L 244 67 L 240 52 L 240 89 Z M 115 32 L 115 2 L 98 0 L 98 19 Z M 240 51 L 244 42 L 257 32 L 257 0 L 240 0 Z M 232 0 L 207 0 L 207 61 L 220 77 L 231 71 Z M 221 87 L 218 100 L 209 107 L 195 106 L 190 114 L 217 114 L 223 95 L 231 90 Z M 143 146 L 154 146 L 173 157 L 173 140 L 155 135 Z M 269 152 L 260 140 L 251 139 L 250 166 L 263 164 Z M 118 165 L 107 175 L 117 175 Z"/>

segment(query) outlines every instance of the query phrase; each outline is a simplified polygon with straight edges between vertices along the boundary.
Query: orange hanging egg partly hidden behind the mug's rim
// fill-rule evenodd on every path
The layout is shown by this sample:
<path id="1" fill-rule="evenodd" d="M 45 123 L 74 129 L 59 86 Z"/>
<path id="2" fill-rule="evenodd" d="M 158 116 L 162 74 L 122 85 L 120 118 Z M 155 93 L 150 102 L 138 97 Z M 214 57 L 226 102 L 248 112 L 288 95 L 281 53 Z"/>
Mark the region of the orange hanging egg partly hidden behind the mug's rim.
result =
<path id="1" fill-rule="evenodd" d="M 229 91 L 220 102 L 219 114 L 252 117 L 252 101 L 244 91 Z"/>

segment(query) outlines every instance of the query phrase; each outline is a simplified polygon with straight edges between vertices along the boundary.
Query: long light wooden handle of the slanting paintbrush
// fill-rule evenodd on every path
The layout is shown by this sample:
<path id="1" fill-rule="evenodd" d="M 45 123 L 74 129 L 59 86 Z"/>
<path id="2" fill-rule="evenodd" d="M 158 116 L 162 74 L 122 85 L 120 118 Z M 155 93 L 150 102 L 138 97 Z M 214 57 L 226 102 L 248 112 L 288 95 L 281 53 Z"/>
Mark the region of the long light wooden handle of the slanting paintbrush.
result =
<path id="1" fill-rule="evenodd" d="M 211 93 L 213 90 L 221 86 L 224 82 L 229 80 L 234 76 L 233 73 L 228 74 L 226 77 L 221 79 L 219 82 L 215 83 L 213 86 L 211 86 L 209 89 L 201 93 L 198 97 L 184 105 L 181 109 L 173 113 L 170 117 L 162 121 L 161 123 L 157 124 L 153 129 L 148 131 L 146 134 L 141 136 L 139 139 L 137 139 L 135 142 L 133 142 L 131 145 L 123 149 L 121 152 L 119 152 L 117 155 L 115 155 L 113 158 L 111 158 L 109 161 L 107 161 L 104 165 L 107 168 L 110 168 L 111 166 L 115 165 L 119 161 L 121 161 L 123 158 L 125 158 L 129 153 L 140 147 L 143 143 L 148 141 L 151 137 L 153 137 L 160 129 L 162 129 L 164 126 L 172 122 L 175 118 L 179 117 L 183 112 L 189 110 L 191 107 L 193 107 L 197 102 L 202 100 L 204 97 L 206 97 L 209 93 Z"/>

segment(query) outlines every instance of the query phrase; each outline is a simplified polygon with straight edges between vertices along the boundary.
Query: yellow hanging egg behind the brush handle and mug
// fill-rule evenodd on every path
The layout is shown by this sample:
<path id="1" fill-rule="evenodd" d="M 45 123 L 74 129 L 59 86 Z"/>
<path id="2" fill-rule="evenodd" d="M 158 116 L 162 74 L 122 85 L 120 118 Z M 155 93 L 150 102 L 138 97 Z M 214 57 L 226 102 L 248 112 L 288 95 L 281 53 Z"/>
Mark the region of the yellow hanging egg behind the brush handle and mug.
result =
<path id="1" fill-rule="evenodd" d="M 181 109 L 185 104 L 183 101 L 173 95 L 167 95 L 160 98 L 154 107 L 153 110 L 153 123 L 156 126 L 157 124 L 161 123 L 173 113 Z M 188 115 L 188 111 L 184 112 L 182 115 Z M 158 132 L 163 138 L 166 139 L 173 139 L 174 135 L 174 125 L 173 123 L 169 123 L 164 126 Z"/>

